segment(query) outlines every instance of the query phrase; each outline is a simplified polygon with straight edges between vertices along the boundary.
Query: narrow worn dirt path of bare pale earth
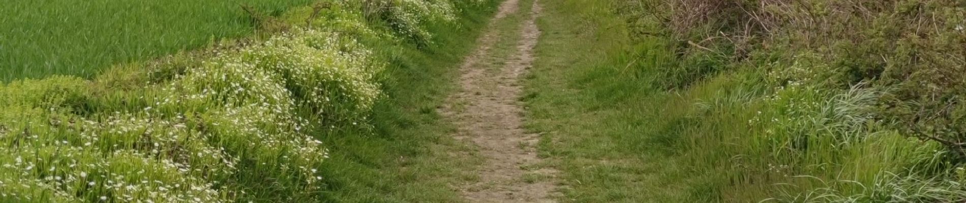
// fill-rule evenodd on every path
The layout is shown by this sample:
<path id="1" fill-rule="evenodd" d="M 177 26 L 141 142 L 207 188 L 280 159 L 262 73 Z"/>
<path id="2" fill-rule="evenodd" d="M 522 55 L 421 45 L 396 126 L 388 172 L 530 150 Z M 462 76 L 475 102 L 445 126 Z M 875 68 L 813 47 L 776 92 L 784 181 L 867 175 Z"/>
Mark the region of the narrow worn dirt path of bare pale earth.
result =
<path id="1" fill-rule="evenodd" d="M 485 163 L 478 171 L 479 181 L 461 190 L 469 202 L 554 202 L 553 169 L 538 168 L 541 160 L 534 145 L 537 135 L 523 129 L 519 78 L 533 63 L 533 48 L 540 37 L 535 23 L 541 8 L 533 1 L 529 13 L 523 13 L 516 47 L 503 47 L 514 52 L 508 59 L 494 59 L 500 34 L 495 24 L 508 15 L 520 13 L 521 0 L 507 0 L 491 21 L 490 31 L 479 40 L 480 46 L 462 65 L 462 91 L 453 95 L 443 114 L 454 120 L 460 140 L 479 146 Z M 512 49 L 516 50 L 512 50 Z M 503 61 L 504 63 L 494 63 Z"/>

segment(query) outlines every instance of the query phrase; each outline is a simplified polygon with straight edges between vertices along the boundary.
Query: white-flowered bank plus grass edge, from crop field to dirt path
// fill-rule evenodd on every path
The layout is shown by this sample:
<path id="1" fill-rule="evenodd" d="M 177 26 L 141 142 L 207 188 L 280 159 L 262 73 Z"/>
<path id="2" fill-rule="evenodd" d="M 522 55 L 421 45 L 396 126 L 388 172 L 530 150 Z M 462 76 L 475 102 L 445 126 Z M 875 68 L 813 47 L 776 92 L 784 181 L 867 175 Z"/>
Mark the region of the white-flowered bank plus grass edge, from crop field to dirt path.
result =
<path id="1" fill-rule="evenodd" d="M 322 3 L 270 38 L 16 80 L 0 202 L 454 201 L 433 110 L 494 7 Z"/>

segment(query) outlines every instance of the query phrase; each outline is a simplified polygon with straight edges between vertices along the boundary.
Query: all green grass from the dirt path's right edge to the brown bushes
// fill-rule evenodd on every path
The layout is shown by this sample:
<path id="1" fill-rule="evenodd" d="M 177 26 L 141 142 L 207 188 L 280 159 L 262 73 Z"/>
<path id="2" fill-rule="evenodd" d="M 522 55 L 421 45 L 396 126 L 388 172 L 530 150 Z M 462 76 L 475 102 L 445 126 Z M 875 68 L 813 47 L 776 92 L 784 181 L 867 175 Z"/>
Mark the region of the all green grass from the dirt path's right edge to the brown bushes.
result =
<path id="1" fill-rule="evenodd" d="M 665 89 L 678 78 L 662 73 L 684 64 L 676 43 L 629 32 L 616 12 L 625 3 L 544 2 L 527 128 L 544 133 L 541 156 L 563 171 L 565 202 L 966 197 L 962 169 L 937 144 L 870 115 L 876 89 L 776 86 L 753 68 L 774 64 L 719 60 L 709 64 L 745 68 Z"/>

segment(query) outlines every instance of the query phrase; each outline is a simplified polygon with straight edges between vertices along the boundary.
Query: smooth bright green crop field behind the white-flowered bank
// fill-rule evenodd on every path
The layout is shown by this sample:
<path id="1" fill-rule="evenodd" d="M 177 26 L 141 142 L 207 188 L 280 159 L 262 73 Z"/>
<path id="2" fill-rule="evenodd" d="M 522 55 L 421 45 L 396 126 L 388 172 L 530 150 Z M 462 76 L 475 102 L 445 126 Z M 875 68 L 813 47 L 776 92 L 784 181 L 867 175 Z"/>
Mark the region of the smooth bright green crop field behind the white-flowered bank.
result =
<path id="1" fill-rule="evenodd" d="M 28 1 L 0 7 L 0 81 L 52 74 L 91 77 L 116 63 L 241 38 L 255 23 L 241 5 L 278 15 L 312 0 Z"/>

